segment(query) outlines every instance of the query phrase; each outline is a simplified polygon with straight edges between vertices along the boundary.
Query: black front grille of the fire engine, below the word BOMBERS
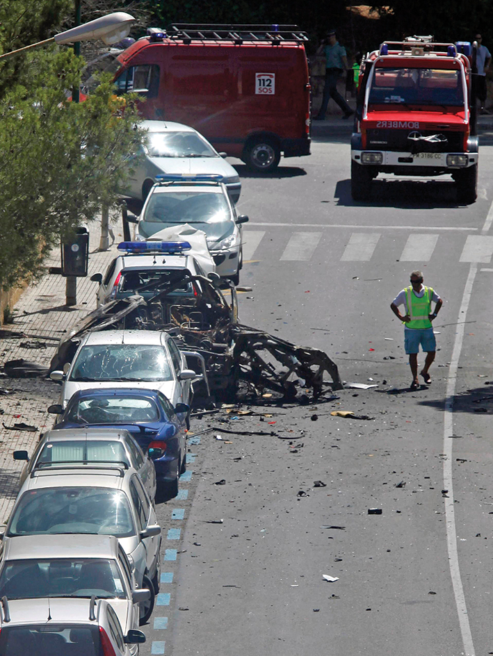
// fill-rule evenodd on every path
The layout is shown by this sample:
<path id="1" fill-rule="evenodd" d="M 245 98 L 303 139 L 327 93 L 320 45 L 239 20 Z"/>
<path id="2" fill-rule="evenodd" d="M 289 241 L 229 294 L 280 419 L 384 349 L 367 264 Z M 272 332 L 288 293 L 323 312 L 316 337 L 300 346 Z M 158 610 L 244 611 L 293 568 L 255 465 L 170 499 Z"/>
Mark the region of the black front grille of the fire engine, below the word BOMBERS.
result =
<path id="1" fill-rule="evenodd" d="M 428 137 L 438 134 L 444 139 L 434 142 L 419 140 L 420 136 Z M 463 132 L 410 129 L 371 129 L 366 132 L 366 148 L 369 150 L 446 153 L 460 152 L 463 147 Z"/>

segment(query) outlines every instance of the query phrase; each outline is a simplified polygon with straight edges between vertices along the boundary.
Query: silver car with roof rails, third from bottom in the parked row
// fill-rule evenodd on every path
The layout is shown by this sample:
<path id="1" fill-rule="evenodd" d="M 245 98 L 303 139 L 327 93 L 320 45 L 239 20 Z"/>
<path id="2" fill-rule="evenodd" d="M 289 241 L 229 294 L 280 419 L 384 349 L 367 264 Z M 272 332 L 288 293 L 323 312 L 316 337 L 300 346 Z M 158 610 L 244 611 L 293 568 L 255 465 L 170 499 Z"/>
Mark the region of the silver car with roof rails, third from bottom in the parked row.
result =
<path id="1" fill-rule="evenodd" d="M 134 469 L 71 464 L 35 467 L 22 485 L 3 536 L 4 548 L 20 536 L 114 535 L 139 588 L 149 590 L 140 622 L 152 614 L 159 590 L 161 527 Z"/>

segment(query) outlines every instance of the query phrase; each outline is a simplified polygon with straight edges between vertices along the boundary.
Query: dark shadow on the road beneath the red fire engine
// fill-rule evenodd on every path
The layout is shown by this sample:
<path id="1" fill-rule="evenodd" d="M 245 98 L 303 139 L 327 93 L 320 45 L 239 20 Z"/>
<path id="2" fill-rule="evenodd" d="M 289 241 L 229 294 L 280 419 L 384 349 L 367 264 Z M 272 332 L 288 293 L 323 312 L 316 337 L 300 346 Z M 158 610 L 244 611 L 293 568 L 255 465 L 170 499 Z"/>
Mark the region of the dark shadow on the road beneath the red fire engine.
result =
<path id="1" fill-rule="evenodd" d="M 351 196 L 351 181 L 339 180 L 334 197 L 338 199 L 338 205 L 354 207 L 458 207 L 455 185 L 451 181 L 375 179 L 371 183 L 370 199 L 354 201 Z"/>

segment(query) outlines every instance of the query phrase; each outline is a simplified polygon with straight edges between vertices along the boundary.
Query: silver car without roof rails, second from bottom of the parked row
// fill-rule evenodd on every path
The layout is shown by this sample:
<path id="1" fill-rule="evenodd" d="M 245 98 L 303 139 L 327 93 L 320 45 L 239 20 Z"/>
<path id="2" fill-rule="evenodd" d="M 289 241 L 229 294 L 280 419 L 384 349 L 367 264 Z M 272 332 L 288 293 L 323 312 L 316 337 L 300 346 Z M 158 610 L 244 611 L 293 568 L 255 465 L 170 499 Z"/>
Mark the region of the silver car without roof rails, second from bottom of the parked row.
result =
<path id="1" fill-rule="evenodd" d="M 92 596 L 107 599 L 127 634 L 138 627 L 140 603 L 149 598 L 149 591 L 136 588 L 127 556 L 113 536 L 25 535 L 3 546 L 0 598 L 4 596 L 10 604 L 42 598 L 63 598 L 70 604 L 86 598 L 85 614 Z M 81 617 L 74 613 L 72 619 Z"/>

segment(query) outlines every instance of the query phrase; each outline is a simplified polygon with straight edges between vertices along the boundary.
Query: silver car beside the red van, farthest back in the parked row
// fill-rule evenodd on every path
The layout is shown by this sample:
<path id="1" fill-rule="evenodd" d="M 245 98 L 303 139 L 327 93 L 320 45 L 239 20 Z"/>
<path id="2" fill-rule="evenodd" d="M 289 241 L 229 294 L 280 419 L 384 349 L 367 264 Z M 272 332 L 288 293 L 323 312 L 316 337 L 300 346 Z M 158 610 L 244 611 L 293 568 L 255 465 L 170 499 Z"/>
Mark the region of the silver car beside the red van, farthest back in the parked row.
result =
<path id="1" fill-rule="evenodd" d="M 145 200 L 156 182 L 156 175 L 213 174 L 220 175 L 232 202 L 241 194 L 241 181 L 236 169 L 218 153 L 197 130 L 170 121 L 143 121 L 145 145 L 138 157 L 131 158 L 132 170 L 124 195 Z"/>

